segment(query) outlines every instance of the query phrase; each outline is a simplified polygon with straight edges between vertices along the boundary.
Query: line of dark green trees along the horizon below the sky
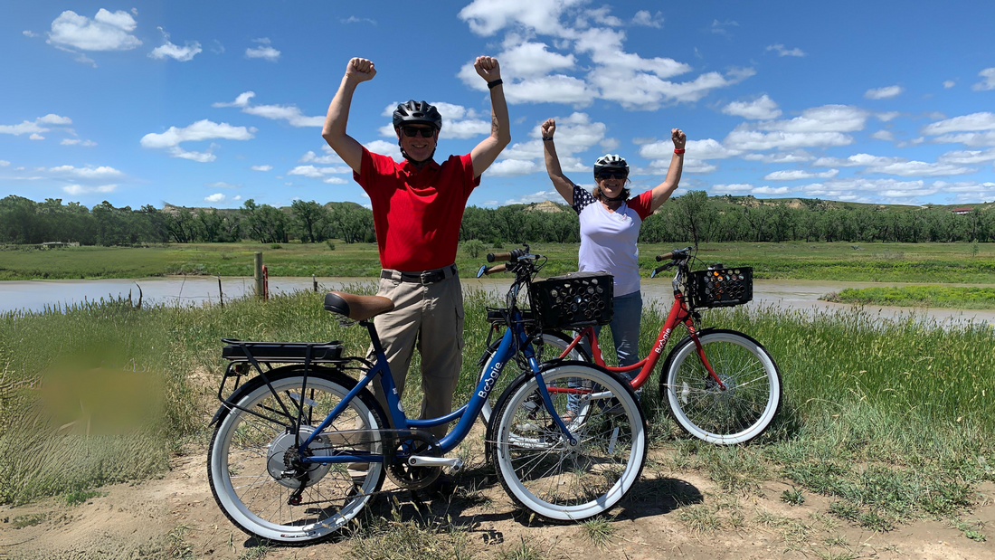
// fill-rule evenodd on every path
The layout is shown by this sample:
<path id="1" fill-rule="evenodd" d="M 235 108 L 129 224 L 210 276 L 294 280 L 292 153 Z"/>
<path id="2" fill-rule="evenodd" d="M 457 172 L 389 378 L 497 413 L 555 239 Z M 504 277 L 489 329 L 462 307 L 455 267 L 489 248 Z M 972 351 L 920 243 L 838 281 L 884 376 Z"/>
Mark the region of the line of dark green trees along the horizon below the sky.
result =
<path id="1" fill-rule="evenodd" d="M 708 197 L 692 191 L 668 201 L 640 230 L 644 243 L 700 242 L 995 242 L 995 205 L 973 205 L 960 215 L 949 208 L 849 205 L 818 199 L 763 201 Z M 544 211 L 543 211 L 544 210 Z M 372 243 L 373 214 L 351 202 L 325 205 L 297 200 L 289 208 L 250 199 L 234 210 L 145 205 L 134 210 L 102 202 L 88 209 L 61 199 L 0 199 L 0 243 L 78 242 L 135 246 L 158 243 Z M 576 214 L 545 203 L 498 208 L 468 207 L 461 241 L 486 244 L 577 243 Z"/>

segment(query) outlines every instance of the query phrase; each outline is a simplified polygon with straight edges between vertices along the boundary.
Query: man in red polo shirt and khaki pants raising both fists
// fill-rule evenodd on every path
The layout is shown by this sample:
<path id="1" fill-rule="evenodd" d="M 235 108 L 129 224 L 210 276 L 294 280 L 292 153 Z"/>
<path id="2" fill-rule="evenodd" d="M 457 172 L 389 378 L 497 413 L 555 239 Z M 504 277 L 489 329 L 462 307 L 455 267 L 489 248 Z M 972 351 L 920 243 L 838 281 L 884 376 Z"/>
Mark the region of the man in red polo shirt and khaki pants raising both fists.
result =
<path id="1" fill-rule="evenodd" d="M 425 101 L 397 105 L 394 131 L 404 163 L 371 153 L 345 133 L 352 93 L 376 76 L 373 63 L 352 59 L 331 99 L 321 136 L 354 171 L 373 207 L 380 250 L 377 295 L 394 301 L 394 310 L 373 319 L 399 393 L 417 346 L 422 357 L 421 418 L 453 410 L 453 391 L 463 366 L 463 291 L 456 271 L 460 224 L 470 193 L 481 174 L 511 141 L 507 105 L 497 59 L 478 57 L 474 68 L 491 90 L 491 135 L 469 154 L 442 164 L 432 158 L 442 115 Z M 385 405 L 380 384 L 375 394 Z M 437 438 L 446 427 L 434 428 Z"/>

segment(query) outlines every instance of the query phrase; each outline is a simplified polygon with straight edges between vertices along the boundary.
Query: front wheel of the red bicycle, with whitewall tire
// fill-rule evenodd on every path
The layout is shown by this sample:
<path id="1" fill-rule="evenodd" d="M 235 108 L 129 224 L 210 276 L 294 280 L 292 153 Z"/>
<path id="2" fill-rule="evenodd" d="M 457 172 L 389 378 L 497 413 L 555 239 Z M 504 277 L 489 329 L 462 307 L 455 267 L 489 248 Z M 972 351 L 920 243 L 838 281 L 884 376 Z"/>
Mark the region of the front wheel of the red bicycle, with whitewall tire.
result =
<path id="1" fill-rule="evenodd" d="M 720 387 L 688 336 L 667 358 L 660 394 L 681 428 L 709 444 L 746 443 L 770 426 L 781 404 L 781 374 L 759 342 L 734 330 L 707 329 L 701 351 Z"/>

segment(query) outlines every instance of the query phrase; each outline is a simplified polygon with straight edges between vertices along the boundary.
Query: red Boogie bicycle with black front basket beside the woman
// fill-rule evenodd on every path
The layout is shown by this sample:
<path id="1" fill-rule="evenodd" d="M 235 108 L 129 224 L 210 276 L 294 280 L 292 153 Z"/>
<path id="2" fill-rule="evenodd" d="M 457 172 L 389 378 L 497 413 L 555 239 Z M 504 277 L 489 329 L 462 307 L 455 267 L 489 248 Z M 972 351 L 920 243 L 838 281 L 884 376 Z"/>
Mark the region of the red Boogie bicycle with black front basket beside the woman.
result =
<path id="1" fill-rule="evenodd" d="M 674 304 L 650 355 L 639 362 L 623 367 L 606 365 L 593 324 L 584 326 L 575 336 L 543 330 L 535 333 L 533 345 L 540 360 L 590 361 L 617 374 L 638 371 L 631 381 L 633 389 L 638 390 L 650 379 L 674 330 L 683 324 L 688 335 L 664 361 L 660 395 L 667 399 L 672 416 L 688 434 L 711 444 L 742 444 L 762 434 L 776 417 L 781 403 L 781 374 L 767 350 L 752 337 L 730 329 L 698 327 L 698 308 L 736 305 L 752 298 L 752 271 L 718 266 L 693 273 L 690 263 L 695 259 L 695 250 L 689 247 L 657 257 L 658 262 L 670 263 L 654 270 L 650 278 L 677 269 Z M 491 314 L 493 337 L 501 322 L 500 313 L 493 313 L 494 318 Z M 585 339 L 586 347 L 581 344 Z M 495 351 L 492 346 L 489 344 L 481 357 L 482 375 L 489 371 Z M 486 422 L 490 421 L 490 413 L 487 404 L 482 412 Z"/>

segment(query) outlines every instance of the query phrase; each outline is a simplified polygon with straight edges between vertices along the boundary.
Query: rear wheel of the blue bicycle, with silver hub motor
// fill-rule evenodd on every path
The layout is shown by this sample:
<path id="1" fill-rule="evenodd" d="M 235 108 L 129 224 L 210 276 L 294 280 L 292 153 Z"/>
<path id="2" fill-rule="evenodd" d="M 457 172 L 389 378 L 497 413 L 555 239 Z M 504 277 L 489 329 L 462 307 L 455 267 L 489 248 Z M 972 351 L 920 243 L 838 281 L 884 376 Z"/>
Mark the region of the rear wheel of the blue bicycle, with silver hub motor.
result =
<path id="1" fill-rule="evenodd" d="M 214 431 L 207 459 L 211 491 L 225 515 L 243 531 L 271 541 L 308 543 L 327 537 L 354 517 L 370 494 L 380 489 L 384 467 L 382 463 L 303 464 L 295 470 L 297 437 L 303 443 L 356 382 L 337 372 L 311 371 L 301 391 L 299 370 L 268 374 L 280 400 L 261 378 L 255 378 L 236 402 L 240 408 L 229 410 Z M 301 408 L 295 433 L 292 428 Z M 306 455 L 382 453 L 375 431 L 386 425 L 383 418 L 373 396 L 363 391 L 314 439 Z M 298 498 L 293 496 L 296 491 Z"/>

